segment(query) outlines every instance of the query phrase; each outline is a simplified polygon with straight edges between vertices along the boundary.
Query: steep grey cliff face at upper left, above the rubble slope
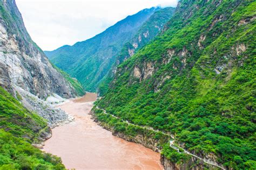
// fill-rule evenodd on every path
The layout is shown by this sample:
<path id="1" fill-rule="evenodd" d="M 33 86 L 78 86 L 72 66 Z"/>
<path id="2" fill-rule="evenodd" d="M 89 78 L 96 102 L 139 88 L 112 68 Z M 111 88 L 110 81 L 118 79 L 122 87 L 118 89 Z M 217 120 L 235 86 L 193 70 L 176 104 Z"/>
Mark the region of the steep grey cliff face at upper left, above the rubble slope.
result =
<path id="1" fill-rule="evenodd" d="M 71 84 L 31 40 L 15 1 L 0 1 L 0 17 L 0 85 L 11 90 L 15 84 L 39 98 L 52 93 L 76 96 Z"/>

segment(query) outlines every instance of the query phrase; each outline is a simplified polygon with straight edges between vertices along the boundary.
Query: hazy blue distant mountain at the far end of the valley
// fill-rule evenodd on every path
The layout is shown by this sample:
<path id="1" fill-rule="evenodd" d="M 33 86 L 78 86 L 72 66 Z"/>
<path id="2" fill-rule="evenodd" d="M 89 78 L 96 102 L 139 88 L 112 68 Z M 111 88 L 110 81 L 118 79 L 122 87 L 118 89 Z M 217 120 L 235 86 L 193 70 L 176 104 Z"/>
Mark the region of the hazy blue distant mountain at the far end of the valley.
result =
<path id="1" fill-rule="evenodd" d="M 98 83 L 116 61 L 116 55 L 123 45 L 159 9 L 144 9 L 89 40 L 77 42 L 73 46 L 63 46 L 45 54 L 57 67 L 76 77 L 86 90 L 95 91 Z"/>

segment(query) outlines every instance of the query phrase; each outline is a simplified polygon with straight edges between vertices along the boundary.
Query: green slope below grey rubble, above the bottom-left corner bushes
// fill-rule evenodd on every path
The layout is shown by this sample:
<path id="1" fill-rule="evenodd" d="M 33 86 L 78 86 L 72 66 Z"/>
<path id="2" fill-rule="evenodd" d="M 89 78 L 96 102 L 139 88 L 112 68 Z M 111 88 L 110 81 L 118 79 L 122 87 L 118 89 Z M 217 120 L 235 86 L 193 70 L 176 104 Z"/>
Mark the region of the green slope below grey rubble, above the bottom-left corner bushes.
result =
<path id="1" fill-rule="evenodd" d="M 36 140 L 42 130 L 48 130 L 47 123 L 37 114 L 26 110 L 19 101 L 0 87 L 0 128 L 15 136 Z"/>

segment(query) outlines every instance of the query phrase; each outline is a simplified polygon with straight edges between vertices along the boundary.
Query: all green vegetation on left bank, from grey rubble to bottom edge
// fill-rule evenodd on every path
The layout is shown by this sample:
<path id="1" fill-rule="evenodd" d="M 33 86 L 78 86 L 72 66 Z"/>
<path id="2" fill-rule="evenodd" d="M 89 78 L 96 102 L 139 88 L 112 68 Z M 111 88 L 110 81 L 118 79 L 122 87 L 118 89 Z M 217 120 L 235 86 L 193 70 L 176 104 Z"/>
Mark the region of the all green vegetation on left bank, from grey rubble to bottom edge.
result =
<path id="1" fill-rule="evenodd" d="M 50 133 L 46 122 L 2 87 L 0 110 L 0 169 L 65 169 L 60 158 L 31 145 Z"/>

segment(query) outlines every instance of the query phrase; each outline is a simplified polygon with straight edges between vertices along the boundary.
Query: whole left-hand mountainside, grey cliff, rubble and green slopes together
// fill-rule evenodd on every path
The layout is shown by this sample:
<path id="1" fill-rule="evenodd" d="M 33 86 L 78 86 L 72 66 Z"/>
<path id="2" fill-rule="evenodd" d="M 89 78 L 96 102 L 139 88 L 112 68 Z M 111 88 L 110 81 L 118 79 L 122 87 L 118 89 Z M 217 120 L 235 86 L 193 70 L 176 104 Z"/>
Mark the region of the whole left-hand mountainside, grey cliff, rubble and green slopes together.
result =
<path id="1" fill-rule="evenodd" d="M 50 128 L 72 119 L 45 100 L 82 91 L 32 41 L 15 1 L 0 0 L 0 169 L 65 169 L 60 158 L 36 148 L 51 137 Z"/>

